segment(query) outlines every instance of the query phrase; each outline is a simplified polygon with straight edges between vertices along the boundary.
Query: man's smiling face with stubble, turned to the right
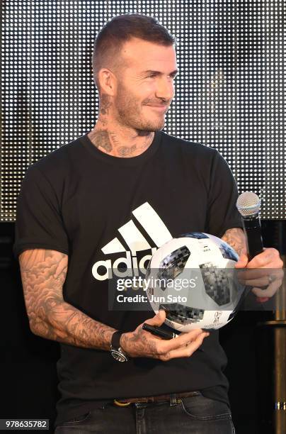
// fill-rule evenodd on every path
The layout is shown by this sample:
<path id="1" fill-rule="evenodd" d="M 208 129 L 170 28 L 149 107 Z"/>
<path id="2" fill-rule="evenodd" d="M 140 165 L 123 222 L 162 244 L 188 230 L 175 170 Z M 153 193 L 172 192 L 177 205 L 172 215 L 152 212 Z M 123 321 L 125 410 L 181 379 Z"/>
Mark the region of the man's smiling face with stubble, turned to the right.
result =
<path id="1" fill-rule="evenodd" d="M 138 38 L 123 45 L 122 67 L 114 115 L 122 126 L 156 131 L 164 128 L 165 113 L 174 96 L 176 51 Z"/>

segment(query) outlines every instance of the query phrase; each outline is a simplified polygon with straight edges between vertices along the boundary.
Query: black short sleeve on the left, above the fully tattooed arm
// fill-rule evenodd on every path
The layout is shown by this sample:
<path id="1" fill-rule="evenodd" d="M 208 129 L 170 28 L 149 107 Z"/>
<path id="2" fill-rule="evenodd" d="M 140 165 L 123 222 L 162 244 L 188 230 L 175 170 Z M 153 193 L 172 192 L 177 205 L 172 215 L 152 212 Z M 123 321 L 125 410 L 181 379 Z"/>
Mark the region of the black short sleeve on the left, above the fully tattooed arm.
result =
<path id="1" fill-rule="evenodd" d="M 13 254 L 43 248 L 69 253 L 69 243 L 59 200 L 49 180 L 31 166 L 25 173 L 17 199 Z"/>

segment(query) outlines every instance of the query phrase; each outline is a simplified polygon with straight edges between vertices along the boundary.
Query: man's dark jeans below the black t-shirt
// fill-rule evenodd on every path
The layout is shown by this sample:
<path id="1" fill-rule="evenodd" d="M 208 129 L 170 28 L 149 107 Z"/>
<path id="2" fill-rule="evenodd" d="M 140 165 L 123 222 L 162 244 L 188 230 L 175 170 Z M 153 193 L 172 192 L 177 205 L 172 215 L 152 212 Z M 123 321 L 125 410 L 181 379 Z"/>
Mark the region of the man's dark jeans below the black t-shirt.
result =
<path id="1" fill-rule="evenodd" d="M 127 407 L 106 404 L 57 426 L 57 434 L 234 434 L 227 404 L 202 396 L 180 404 L 160 401 Z"/>

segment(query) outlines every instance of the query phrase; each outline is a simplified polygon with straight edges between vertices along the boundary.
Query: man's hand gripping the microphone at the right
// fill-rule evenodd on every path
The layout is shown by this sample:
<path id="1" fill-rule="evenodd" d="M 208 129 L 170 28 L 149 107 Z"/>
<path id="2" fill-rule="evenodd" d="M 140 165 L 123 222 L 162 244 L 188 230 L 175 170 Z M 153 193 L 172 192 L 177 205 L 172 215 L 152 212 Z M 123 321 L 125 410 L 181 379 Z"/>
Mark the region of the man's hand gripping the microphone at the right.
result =
<path id="1" fill-rule="evenodd" d="M 279 252 L 273 247 L 264 247 L 263 252 L 249 262 L 247 255 L 241 253 L 239 262 L 235 265 L 235 268 L 245 269 L 239 272 L 239 282 L 253 286 L 253 294 L 261 303 L 268 301 L 282 285 L 284 275 L 282 267 L 283 262 Z M 261 289 L 262 286 L 267 288 Z"/>

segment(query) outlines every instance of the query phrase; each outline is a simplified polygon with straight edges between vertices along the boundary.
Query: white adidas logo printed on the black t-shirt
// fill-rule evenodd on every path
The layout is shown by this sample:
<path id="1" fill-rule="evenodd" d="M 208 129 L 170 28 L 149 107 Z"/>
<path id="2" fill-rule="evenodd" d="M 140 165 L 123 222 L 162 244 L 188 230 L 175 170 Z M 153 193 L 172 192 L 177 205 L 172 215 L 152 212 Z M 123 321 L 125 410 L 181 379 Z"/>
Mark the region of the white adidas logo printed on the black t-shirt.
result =
<path id="1" fill-rule="evenodd" d="M 138 276 L 139 271 L 145 274 L 145 264 L 147 265 L 157 248 L 171 240 L 172 235 L 168 231 L 168 228 L 148 202 L 140 205 L 132 211 L 132 214 L 135 217 L 135 221 L 131 219 L 125 225 L 118 228 L 118 232 L 120 233 L 118 235 L 119 238 L 113 238 L 101 249 L 105 255 L 124 252 L 125 256 L 118 257 L 113 263 L 110 259 L 107 259 L 93 264 L 92 274 L 96 280 L 112 279 L 113 274 L 118 277 Z M 144 229 L 156 247 L 151 247 L 150 243 L 135 225 L 135 222 L 137 226 Z M 123 243 L 127 245 L 127 249 Z M 138 263 L 137 252 L 148 249 L 151 250 L 151 254 L 142 257 Z M 121 269 L 122 265 L 124 265 L 126 267 L 125 271 L 120 271 L 119 265 Z"/>

